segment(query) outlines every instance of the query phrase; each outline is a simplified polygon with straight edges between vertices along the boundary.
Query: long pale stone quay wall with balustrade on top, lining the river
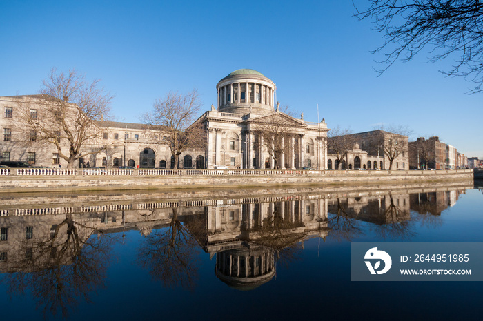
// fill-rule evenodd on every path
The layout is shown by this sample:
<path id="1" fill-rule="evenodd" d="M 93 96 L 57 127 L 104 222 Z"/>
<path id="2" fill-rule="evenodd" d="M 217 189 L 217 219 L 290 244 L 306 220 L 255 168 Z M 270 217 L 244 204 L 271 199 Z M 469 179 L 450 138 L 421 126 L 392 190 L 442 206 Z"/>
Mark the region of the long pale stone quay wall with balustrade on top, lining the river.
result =
<path id="1" fill-rule="evenodd" d="M 472 181 L 473 169 L 302 171 L 218 169 L 1 169 L 0 193 L 128 191 Z"/>

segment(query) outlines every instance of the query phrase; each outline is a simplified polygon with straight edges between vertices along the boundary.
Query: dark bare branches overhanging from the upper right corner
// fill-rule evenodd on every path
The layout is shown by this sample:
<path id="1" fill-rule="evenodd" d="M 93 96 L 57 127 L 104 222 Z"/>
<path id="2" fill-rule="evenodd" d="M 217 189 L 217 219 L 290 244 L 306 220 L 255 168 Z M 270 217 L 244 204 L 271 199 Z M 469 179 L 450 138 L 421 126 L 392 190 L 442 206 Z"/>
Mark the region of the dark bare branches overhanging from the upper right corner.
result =
<path id="1" fill-rule="evenodd" d="M 370 19 L 384 34 L 384 44 L 374 52 L 385 52 L 385 72 L 395 61 L 410 61 L 428 48 L 429 61 L 454 57 L 446 75 L 463 76 L 483 85 L 483 3 L 480 0 L 369 0 L 355 16 Z"/>

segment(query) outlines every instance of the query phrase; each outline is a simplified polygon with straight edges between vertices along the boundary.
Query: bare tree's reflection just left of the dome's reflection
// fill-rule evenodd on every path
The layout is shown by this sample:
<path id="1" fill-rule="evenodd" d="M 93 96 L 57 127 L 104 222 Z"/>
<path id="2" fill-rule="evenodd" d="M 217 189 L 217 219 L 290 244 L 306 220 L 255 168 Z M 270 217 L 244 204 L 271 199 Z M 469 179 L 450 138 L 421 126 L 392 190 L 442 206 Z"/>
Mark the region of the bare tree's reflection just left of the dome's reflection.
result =
<path id="1" fill-rule="evenodd" d="M 196 229 L 194 223 L 191 229 Z M 199 221 L 199 227 L 204 227 Z M 193 289 L 198 278 L 199 245 L 172 208 L 169 226 L 152 231 L 139 247 L 138 262 L 166 288 Z"/>

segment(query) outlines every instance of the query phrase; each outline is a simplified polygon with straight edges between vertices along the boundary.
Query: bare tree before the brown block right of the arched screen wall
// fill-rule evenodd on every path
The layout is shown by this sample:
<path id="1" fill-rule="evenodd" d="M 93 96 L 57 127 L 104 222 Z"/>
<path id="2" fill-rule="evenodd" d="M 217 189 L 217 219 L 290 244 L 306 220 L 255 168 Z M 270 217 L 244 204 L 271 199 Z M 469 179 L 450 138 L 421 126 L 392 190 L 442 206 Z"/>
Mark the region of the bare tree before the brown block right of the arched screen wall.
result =
<path id="1" fill-rule="evenodd" d="M 389 170 L 393 169 L 395 159 L 408 152 L 408 135 L 412 133 L 406 125 L 384 125 L 377 128 L 377 133 L 373 145 L 369 149 L 382 150 L 384 156 L 388 158 Z"/>

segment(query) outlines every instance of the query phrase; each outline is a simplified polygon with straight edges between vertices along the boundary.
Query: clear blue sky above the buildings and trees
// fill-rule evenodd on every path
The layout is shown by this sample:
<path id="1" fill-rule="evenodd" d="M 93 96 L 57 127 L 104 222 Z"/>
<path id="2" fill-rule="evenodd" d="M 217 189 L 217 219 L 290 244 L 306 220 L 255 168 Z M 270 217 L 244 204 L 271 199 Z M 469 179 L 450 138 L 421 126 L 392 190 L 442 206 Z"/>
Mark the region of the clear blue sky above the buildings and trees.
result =
<path id="1" fill-rule="evenodd" d="M 357 0 L 356 3 L 365 3 Z M 196 88 L 204 110 L 216 84 L 250 68 L 306 121 L 353 132 L 408 125 L 483 158 L 483 94 L 421 54 L 377 77 L 382 34 L 352 1 L 0 0 L 0 96 L 37 94 L 50 68 L 101 79 L 117 121 L 139 123 L 155 99 Z"/>

